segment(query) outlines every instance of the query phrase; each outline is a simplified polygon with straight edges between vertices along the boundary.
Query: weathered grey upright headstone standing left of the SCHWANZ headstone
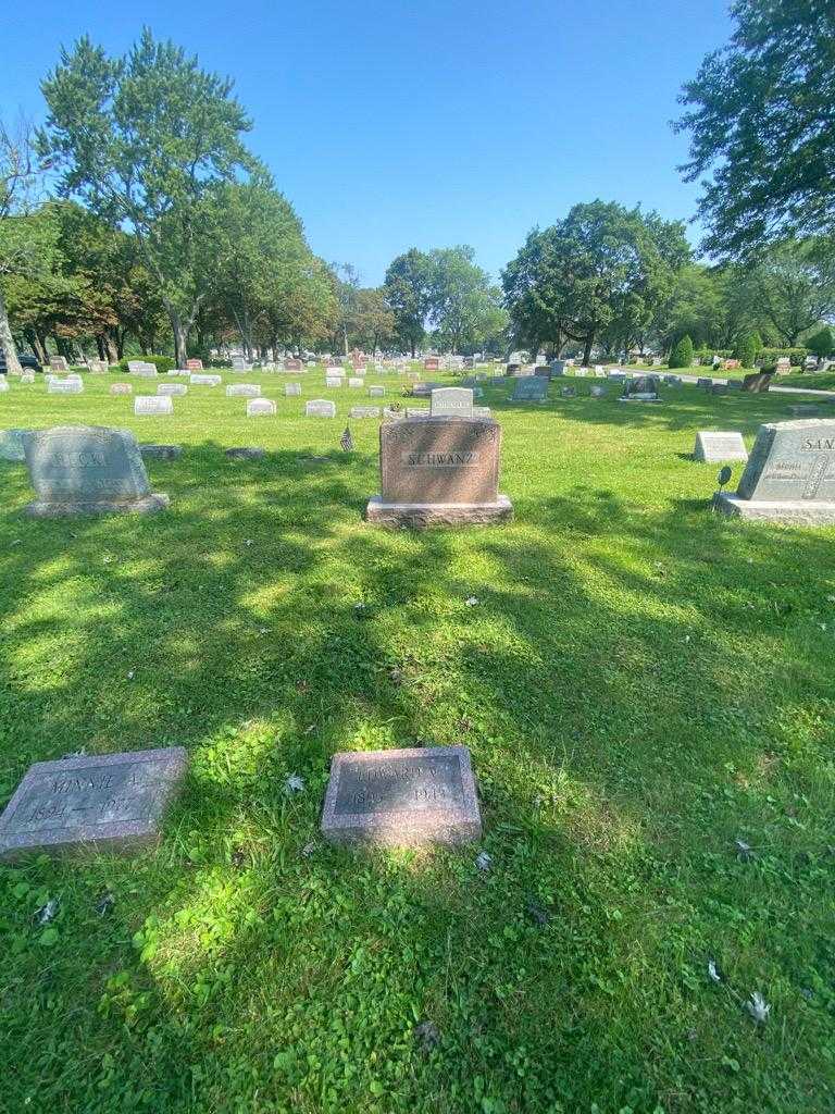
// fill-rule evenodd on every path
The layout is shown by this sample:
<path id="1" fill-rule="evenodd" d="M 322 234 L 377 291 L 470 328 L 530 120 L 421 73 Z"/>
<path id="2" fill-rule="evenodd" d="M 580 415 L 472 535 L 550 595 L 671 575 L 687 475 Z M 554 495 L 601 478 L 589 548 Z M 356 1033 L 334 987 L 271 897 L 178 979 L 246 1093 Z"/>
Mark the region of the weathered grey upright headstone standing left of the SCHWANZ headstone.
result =
<path id="1" fill-rule="evenodd" d="M 23 442 L 38 518 L 164 510 L 167 495 L 150 491 L 132 433 L 102 426 L 36 430 Z"/>

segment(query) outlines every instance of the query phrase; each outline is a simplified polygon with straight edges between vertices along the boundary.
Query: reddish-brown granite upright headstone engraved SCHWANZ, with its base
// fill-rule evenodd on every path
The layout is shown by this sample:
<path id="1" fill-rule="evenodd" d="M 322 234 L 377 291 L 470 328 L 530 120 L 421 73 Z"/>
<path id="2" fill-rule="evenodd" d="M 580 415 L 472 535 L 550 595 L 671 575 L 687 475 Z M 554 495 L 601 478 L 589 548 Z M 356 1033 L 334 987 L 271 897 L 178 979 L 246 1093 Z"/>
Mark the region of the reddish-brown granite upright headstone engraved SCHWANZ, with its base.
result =
<path id="1" fill-rule="evenodd" d="M 413 418 L 380 427 L 382 492 L 365 517 L 383 526 L 466 526 L 508 521 L 499 495 L 501 428 L 483 418 Z"/>

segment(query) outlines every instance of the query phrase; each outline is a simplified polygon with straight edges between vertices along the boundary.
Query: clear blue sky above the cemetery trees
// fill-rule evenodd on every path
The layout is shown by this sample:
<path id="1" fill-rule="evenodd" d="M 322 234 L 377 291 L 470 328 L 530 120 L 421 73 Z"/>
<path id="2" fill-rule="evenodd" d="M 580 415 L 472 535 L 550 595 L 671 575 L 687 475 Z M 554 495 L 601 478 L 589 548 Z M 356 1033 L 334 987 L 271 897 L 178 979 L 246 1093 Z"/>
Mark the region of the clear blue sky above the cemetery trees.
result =
<path id="1" fill-rule="evenodd" d="M 725 0 L 294 6 L 48 0 L 4 17 L 4 116 L 43 116 L 39 82 L 87 32 L 124 52 L 148 25 L 228 74 L 249 144 L 313 250 L 366 284 L 411 246 L 468 243 L 494 276 L 533 225 L 601 197 L 689 218 L 669 120 Z M 698 238 L 698 229 L 690 231 Z"/>

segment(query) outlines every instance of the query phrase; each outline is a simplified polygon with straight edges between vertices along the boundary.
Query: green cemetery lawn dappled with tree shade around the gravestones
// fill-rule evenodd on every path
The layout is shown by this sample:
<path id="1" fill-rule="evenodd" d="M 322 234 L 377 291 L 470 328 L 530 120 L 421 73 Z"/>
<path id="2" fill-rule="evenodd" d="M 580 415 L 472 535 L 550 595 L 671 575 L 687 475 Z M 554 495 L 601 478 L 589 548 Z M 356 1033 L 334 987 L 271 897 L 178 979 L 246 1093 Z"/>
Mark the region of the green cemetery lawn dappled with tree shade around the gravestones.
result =
<path id="1" fill-rule="evenodd" d="M 0 395 L 185 450 L 149 517 L 26 519 L 0 463 L 0 805 L 81 749 L 190 765 L 158 848 L 0 866 L 0 1111 L 832 1112 L 835 529 L 717 519 L 689 459 L 793 400 L 488 387 L 515 522 L 413 534 L 362 520 L 377 422 L 338 448 L 367 392 L 136 419 L 115 378 Z M 416 743 L 471 749 L 483 841 L 324 846 L 332 753 Z"/>

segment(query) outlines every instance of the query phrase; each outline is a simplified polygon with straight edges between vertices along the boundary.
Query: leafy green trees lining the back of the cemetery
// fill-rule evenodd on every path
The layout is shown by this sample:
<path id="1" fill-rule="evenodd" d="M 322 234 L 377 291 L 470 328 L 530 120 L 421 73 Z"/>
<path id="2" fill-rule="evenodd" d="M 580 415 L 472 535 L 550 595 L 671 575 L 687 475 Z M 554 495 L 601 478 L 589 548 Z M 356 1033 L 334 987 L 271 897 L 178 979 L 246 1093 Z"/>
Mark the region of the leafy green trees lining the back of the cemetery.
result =
<path id="1" fill-rule="evenodd" d="M 124 57 L 88 38 L 42 82 L 47 117 L 0 126 L 0 345 L 45 359 L 129 348 L 249 355 L 744 353 L 808 342 L 835 314 L 835 17 L 821 0 L 737 0 L 730 45 L 682 90 L 709 257 L 680 221 L 593 201 L 533 228 L 494 284 L 471 247 L 412 247 L 383 284 L 311 250 L 245 145 L 232 82 L 145 30 Z M 828 59 L 828 61 L 827 61 Z M 796 92 L 796 96 L 792 95 Z M 707 177 L 713 174 L 713 177 Z M 828 351 L 827 351 L 828 345 Z"/>

